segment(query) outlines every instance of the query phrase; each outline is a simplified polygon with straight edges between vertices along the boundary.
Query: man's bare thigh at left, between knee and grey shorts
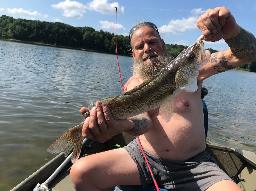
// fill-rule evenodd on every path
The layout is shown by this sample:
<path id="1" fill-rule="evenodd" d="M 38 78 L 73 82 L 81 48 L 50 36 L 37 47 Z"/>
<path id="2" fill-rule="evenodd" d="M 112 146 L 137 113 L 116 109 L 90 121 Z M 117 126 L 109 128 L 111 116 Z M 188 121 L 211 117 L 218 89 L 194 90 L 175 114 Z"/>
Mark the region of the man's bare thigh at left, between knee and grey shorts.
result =
<path id="1" fill-rule="evenodd" d="M 116 185 L 140 185 L 137 164 L 124 149 L 114 149 L 85 156 L 75 162 L 75 169 L 101 189 Z"/>

